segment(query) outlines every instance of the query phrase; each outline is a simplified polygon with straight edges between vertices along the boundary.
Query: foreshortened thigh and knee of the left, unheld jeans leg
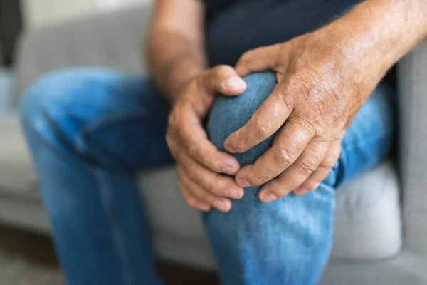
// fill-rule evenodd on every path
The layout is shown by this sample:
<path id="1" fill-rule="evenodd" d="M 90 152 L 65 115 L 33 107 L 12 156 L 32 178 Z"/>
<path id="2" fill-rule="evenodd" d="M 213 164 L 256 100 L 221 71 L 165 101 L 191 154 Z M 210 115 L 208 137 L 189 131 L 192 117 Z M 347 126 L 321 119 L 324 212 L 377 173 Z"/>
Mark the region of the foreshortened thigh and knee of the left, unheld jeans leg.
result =
<path id="1" fill-rule="evenodd" d="M 21 113 L 55 147 L 105 167 L 172 161 L 164 138 L 169 105 L 141 76 L 100 68 L 56 71 L 26 91 Z"/>

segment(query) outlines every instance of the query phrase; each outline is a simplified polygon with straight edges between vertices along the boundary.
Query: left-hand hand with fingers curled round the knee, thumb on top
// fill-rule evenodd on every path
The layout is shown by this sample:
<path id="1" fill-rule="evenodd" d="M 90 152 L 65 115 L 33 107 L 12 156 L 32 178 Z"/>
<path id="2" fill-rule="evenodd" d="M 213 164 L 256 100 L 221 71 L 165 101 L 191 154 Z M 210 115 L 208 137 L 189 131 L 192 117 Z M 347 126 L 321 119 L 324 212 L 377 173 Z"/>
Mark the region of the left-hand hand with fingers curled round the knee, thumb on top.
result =
<path id="1" fill-rule="evenodd" d="M 202 72 L 181 88 L 169 115 L 167 144 L 176 160 L 179 188 L 186 202 L 209 211 L 231 209 L 231 200 L 243 197 L 243 188 L 231 177 L 240 166 L 236 158 L 220 152 L 209 142 L 201 121 L 216 95 L 239 95 L 246 83 L 231 66 L 216 66 Z"/>

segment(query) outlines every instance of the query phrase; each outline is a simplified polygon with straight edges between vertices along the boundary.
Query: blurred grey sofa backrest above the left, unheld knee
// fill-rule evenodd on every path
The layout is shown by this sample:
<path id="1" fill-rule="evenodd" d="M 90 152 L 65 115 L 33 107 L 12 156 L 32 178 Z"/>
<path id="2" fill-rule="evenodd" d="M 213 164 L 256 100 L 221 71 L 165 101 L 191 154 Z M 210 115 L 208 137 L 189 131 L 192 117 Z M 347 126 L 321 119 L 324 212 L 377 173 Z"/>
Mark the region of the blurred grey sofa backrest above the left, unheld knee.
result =
<path id="1" fill-rule="evenodd" d="M 16 55 L 14 105 L 36 78 L 59 68 L 104 66 L 144 72 L 143 40 L 151 8 L 133 6 L 23 33 Z"/>

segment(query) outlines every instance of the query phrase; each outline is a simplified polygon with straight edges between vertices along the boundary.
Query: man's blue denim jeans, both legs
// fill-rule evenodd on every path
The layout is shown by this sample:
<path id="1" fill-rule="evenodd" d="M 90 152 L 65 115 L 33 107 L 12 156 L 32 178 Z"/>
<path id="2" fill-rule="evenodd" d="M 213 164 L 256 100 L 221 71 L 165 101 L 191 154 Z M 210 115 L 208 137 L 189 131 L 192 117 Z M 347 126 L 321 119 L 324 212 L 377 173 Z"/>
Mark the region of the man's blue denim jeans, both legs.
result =
<path id="1" fill-rule="evenodd" d="M 268 72 L 245 80 L 246 92 L 220 96 L 207 120 L 221 150 L 276 83 Z M 389 153 L 392 96 L 384 86 L 372 93 L 317 190 L 263 204 L 259 187 L 248 187 L 231 212 L 204 214 L 222 284 L 317 282 L 332 244 L 335 189 Z M 51 73 L 23 95 L 23 130 L 68 284 L 163 284 L 133 175 L 173 163 L 164 138 L 168 112 L 151 81 L 103 69 Z M 236 155 L 238 161 L 254 162 L 271 140 Z"/>

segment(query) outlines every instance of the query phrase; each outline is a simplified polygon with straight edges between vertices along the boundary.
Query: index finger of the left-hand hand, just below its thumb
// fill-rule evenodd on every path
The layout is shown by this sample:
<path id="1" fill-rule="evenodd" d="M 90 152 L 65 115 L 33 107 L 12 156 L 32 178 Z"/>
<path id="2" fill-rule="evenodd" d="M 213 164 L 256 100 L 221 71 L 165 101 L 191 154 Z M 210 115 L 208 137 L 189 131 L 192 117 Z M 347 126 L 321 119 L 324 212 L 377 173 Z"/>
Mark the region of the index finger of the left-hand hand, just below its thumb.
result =
<path id="1" fill-rule="evenodd" d="M 236 175 L 240 165 L 235 157 L 220 152 L 209 140 L 195 114 L 186 114 L 177 125 L 176 140 L 194 160 L 217 173 Z"/>

